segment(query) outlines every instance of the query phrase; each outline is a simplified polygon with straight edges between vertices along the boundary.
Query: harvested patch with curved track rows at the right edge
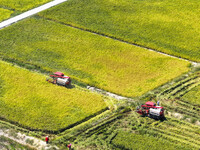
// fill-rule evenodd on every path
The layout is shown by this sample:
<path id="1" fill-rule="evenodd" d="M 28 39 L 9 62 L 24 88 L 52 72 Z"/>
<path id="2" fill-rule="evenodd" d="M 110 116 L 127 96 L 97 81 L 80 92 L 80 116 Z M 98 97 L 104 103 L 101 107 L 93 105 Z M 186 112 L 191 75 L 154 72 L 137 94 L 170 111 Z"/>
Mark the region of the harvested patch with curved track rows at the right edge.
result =
<path id="1" fill-rule="evenodd" d="M 200 77 L 197 71 L 158 92 L 156 98 L 160 99 L 168 110 L 199 119 L 199 84 Z"/>

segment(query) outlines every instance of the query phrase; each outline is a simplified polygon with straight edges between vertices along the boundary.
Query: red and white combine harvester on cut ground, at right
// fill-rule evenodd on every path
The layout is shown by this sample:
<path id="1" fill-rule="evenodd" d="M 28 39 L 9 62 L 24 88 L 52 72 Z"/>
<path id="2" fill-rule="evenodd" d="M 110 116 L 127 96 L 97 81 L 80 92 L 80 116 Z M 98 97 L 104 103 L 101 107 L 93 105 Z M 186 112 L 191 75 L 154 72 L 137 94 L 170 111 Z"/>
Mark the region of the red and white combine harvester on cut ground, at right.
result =
<path id="1" fill-rule="evenodd" d="M 156 106 L 154 102 L 146 102 L 145 104 L 141 105 L 141 108 L 137 108 L 137 113 L 141 114 L 142 116 L 148 116 L 156 119 L 164 118 L 163 107 Z"/>

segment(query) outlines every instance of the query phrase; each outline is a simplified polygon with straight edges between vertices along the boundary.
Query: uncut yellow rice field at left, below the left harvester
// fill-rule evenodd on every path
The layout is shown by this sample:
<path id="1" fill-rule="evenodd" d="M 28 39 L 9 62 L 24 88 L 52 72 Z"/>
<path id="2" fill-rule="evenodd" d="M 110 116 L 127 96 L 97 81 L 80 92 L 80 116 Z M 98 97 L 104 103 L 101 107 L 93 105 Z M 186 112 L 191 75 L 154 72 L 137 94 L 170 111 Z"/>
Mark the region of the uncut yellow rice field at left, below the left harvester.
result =
<path id="1" fill-rule="evenodd" d="M 104 98 L 75 87 L 46 82 L 46 76 L 0 62 L 4 94 L 0 117 L 30 129 L 56 131 L 106 108 Z"/>

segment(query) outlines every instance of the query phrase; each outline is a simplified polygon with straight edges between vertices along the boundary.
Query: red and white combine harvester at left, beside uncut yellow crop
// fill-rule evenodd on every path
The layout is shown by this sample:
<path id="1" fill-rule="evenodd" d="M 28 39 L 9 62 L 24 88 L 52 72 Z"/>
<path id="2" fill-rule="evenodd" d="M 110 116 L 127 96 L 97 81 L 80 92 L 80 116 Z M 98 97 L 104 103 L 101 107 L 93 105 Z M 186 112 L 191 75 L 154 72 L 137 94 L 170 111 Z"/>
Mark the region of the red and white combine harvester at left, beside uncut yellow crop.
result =
<path id="1" fill-rule="evenodd" d="M 50 75 L 50 78 L 47 78 L 47 81 L 53 84 L 62 85 L 68 87 L 71 85 L 71 79 L 68 76 L 65 76 L 62 72 L 55 72 Z"/>

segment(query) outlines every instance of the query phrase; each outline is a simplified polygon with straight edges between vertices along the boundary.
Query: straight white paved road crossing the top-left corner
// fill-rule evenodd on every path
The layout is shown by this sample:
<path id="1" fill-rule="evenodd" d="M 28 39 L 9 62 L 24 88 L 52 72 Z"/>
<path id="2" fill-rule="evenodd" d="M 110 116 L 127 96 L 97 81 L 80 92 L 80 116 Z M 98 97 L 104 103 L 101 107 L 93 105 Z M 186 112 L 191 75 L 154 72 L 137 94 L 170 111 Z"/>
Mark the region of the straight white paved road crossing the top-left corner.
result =
<path id="1" fill-rule="evenodd" d="M 5 21 L 0 23 L 0 29 L 5 28 L 7 26 L 10 26 L 13 23 L 16 23 L 16 22 L 18 22 L 20 20 L 23 20 L 23 19 L 27 18 L 27 17 L 35 15 L 35 14 L 37 14 L 37 13 L 43 11 L 43 10 L 46 10 L 46 9 L 49 9 L 49 8 L 51 8 L 53 6 L 61 4 L 61 3 L 65 2 L 65 1 L 67 1 L 67 0 L 54 0 L 54 1 L 51 1 L 51 2 L 46 3 L 44 5 L 41 5 L 39 7 L 33 8 L 31 10 L 28 10 L 28 11 L 26 11 L 26 12 L 20 14 L 20 15 L 17 15 L 17 16 L 15 16 L 13 18 L 7 19 L 7 20 L 5 20 Z"/>

